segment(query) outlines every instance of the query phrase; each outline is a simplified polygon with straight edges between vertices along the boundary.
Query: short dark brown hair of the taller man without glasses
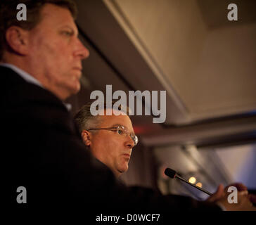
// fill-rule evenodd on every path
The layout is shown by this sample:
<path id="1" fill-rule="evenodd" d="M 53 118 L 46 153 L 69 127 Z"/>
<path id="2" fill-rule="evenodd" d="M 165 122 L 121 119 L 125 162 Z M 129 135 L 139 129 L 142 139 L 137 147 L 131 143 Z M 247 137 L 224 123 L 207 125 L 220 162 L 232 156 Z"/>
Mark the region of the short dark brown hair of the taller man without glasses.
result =
<path id="1" fill-rule="evenodd" d="M 25 4 L 27 7 L 27 20 L 18 21 L 16 10 L 18 4 Z M 6 30 L 11 26 L 18 26 L 24 30 L 32 30 L 41 20 L 41 9 L 45 4 L 54 4 L 68 8 L 72 17 L 77 17 L 77 7 L 72 0 L 1 0 L 0 2 L 0 60 L 4 51 L 8 49 L 6 43 Z"/>

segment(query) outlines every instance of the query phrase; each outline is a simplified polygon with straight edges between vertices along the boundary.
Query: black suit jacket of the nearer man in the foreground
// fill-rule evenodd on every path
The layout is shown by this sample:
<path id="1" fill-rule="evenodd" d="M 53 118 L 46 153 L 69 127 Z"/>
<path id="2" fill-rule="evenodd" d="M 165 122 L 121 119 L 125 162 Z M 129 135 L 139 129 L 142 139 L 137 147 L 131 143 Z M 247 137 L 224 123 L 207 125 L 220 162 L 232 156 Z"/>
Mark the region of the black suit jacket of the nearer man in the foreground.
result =
<path id="1" fill-rule="evenodd" d="M 0 77 L 2 184 L 11 209 L 219 210 L 192 198 L 120 184 L 85 148 L 70 113 L 54 94 L 9 68 L 0 66 Z M 19 186 L 27 190 L 22 206 L 16 200 Z"/>

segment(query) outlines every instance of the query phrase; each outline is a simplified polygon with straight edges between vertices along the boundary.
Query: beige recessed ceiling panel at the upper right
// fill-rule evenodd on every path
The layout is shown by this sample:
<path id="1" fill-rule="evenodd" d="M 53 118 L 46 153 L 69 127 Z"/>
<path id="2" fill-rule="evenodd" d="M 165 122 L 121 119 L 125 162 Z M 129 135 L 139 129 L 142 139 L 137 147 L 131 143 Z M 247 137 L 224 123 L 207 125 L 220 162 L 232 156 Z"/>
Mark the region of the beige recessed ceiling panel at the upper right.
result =
<path id="1" fill-rule="evenodd" d="M 226 1 L 207 1 L 211 7 L 196 0 L 104 2 L 162 89 L 181 105 L 185 123 L 256 109 L 253 17 L 240 18 L 241 23 L 227 21 Z M 246 15 L 252 6 L 243 1 L 238 10 Z M 170 121 L 167 117 L 167 124 Z"/>

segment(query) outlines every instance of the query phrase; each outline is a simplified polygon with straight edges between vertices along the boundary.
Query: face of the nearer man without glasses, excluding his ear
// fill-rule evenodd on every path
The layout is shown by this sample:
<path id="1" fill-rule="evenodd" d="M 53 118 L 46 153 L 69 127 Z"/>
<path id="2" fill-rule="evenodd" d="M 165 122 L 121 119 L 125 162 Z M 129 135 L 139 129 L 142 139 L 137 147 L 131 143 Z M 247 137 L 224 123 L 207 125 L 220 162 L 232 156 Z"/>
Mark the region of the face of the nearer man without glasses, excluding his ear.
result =
<path id="1" fill-rule="evenodd" d="M 68 8 L 46 4 L 41 21 L 29 32 L 29 61 L 39 81 L 61 99 L 80 89 L 82 59 L 89 51 L 77 38 L 77 27 Z"/>

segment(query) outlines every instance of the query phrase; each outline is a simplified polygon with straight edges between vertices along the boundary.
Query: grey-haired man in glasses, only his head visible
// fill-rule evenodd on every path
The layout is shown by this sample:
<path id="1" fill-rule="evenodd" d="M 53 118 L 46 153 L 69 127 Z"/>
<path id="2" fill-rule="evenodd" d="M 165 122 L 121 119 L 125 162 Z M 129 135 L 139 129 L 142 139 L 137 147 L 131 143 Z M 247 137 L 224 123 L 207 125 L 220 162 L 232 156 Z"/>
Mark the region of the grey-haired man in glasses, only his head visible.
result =
<path id="1" fill-rule="evenodd" d="M 84 105 L 75 121 L 79 127 L 84 144 L 95 158 L 108 166 L 116 177 L 126 172 L 132 155 L 132 148 L 137 145 L 138 137 L 134 134 L 132 122 L 126 113 L 121 115 L 98 115 L 90 113 L 91 103 Z M 105 106 L 104 110 L 108 109 Z"/>

